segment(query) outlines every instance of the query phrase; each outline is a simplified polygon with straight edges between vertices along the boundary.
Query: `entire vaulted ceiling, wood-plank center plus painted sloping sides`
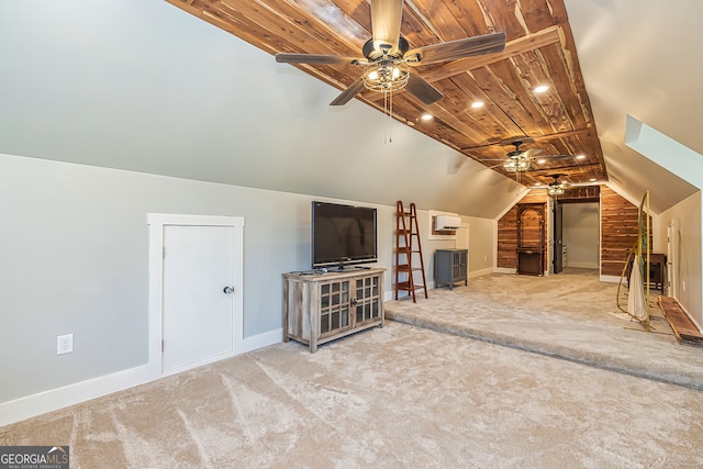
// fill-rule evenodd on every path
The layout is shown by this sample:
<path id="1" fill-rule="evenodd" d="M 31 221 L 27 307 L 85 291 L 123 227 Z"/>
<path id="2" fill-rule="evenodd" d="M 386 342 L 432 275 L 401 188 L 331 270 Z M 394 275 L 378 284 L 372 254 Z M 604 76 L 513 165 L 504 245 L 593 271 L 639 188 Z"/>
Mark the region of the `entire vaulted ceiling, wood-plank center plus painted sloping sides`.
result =
<path id="1" fill-rule="evenodd" d="M 408 1 L 402 33 L 413 46 L 491 31 L 503 31 L 506 46 L 412 68 L 444 98 L 425 107 L 393 94 L 391 120 L 369 92 L 328 105 L 359 67 L 298 69 L 272 56 L 360 55 L 368 1 L 286 0 L 286 15 L 270 0 L 170 1 L 180 9 L 164 0 L 0 2 L 0 153 L 490 219 L 526 189 L 472 158 L 501 160 L 512 148 L 500 144 L 515 137 L 546 155 L 588 157 L 535 161 L 546 170 L 524 174 L 526 185 L 554 171 L 607 177 L 634 201 L 650 190 L 655 213 L 703 187 L 691 183 L 703 174 L 703 60 L 691 54 L 703 47 L 703 2 Z M 333 43 L 342 20 L 347 34 Z M 551 89 L 534 94 L 540 78 Z M 481 111 L 470 108 L 477 97 Z M 427 110 L 435 120 L 420 121 Z M 679 168 L 667 164 L 671 150 L 643 156 L 644 142 L 625 142 L 633 121 L 693 156 Z"/>

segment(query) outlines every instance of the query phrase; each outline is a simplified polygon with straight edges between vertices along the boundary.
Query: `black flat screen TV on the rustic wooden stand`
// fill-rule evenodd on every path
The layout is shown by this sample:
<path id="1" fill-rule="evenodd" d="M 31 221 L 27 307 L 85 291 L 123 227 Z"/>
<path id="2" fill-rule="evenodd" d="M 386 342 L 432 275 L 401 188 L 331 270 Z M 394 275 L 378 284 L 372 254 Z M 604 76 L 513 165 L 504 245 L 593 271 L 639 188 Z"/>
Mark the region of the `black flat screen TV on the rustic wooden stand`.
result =
<path id="1" fill-rule="evenodd" d="M 312 203 L 312 267 L 376 263 L 376 209 Z"/>

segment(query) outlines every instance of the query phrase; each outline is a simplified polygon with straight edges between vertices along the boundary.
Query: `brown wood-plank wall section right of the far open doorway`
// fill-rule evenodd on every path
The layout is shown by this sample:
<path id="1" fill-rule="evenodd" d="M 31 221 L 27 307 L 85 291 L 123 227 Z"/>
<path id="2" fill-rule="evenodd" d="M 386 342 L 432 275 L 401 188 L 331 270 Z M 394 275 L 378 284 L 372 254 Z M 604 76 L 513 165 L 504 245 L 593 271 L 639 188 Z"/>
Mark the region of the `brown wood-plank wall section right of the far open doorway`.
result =
<path id="1" fill-rule="evenodd" d="M 601 275 L 620 277 L 637 241 L 638 206 L 601 187 Z M 651 220 L 650 220 L 651 226 Z M 651 237 L 649 239 L 651 246 Z"/>

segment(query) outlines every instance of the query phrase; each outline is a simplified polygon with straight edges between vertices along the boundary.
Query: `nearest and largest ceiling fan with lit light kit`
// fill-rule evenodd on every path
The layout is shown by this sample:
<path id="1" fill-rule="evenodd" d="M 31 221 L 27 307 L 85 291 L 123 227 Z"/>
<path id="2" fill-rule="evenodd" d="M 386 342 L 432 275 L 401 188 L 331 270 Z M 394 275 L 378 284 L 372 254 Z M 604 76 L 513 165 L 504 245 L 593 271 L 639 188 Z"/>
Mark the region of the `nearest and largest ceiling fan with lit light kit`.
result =
<path id="1" fill-rule="evenodd" d="M 310 65 L 355 65 L 364 67 L 364 74 L 349 85 L 331 105 L 349 102 L 364 88 L 392 92 L 408 88 L 425 104 L 442 99 L 444 94 L 410 67 L 457 60 L 505 48 L 505 33 L 491 33 L 410 49 L 401 36 L 403 0 L 371 0 L 371 38 L 364 44 L 364 58 L 339 55 L 278 53 L 276 62 Z"/>

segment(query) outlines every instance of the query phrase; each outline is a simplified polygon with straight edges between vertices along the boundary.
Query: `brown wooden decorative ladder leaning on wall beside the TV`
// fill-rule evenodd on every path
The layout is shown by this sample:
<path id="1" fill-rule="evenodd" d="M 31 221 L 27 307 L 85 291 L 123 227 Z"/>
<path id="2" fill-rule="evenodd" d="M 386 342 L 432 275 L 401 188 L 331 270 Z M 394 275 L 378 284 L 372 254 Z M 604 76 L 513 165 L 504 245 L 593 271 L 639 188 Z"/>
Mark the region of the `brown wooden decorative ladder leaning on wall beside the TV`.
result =
<path id="1" fill-rule="evenodd" d="M 415 303 L 416 291 L 424 291 L 425 298 L 427 298 L 417 211 L 414 203 L 411 203 L 410 210 L 405 211 L 403 202 L 400 200 L 395 203 L 395 300 L 399 299 L 400 291 L 406 291 Z M 420 277 L 422 277 L 422 282 Z"/>

